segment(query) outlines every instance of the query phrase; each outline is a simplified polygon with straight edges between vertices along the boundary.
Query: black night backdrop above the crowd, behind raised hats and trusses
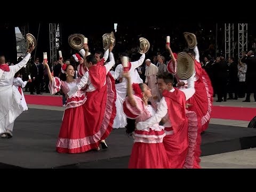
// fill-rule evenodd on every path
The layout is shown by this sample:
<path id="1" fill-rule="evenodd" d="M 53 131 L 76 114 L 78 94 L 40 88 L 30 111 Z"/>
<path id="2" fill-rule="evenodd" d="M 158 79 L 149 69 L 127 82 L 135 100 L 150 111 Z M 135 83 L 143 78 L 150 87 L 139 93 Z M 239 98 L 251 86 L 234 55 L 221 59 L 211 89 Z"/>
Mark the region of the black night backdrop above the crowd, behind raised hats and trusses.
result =
<path id="1" fill-rule="evenodd" d="M 123 52 L 131 47 L 138 46 L 139 37 L 145 37 L 153 46 L 153 52 L 157 53 L 158 49 L 165 51 L 165 38 L 171 36 L 171 45 L 173 51 L 185 49 L 185 39 L 183 32 L 188 31 L 195 33 L 198 41 L 200 52 L 209 49 L 209 45 L 213 44 L 215 49 L 216 22 L 59 22 L 61 30 L 60 49 L 62 54 L 69 55 L 73 52 L 68 45 L 68 36 L 74 33 L 81 33 L 89 39 L 90 51 L 102 50 L 102 35 L 114 31 L 114 22 L 118 23 L 116 37 L 116 52 Z M 141 24 L 142 23 L 142 24 Z M 17 59 L 15 27 L 21 27 L 25 23 L 0 23 L 0 54 L 5 55 L 6 60 Z M 49 23 L 28 23 L 29 33 L 36 38 L 38 35 L 36 56 L 42 58 L 43 52 L 50 52 Z M 238 23 L 235 23 L 234 38 L 235 42 L 238 38 Z M 251 49 L 254 42 L 256 30 L 254 23 L 248 23 L 248 49 Z M 39 30 L 38 30 L 39 29 Z M 225 54 L 225 23 L 218 23 L 218 54 Z M 119 42 L 119 43 L 118 43 Z M 122 43 L 122 44 L 121 44 Z M 236 51 L 235 51 L 236 52 Z M 35 53 L 34 53 L 35 54 Z"/>

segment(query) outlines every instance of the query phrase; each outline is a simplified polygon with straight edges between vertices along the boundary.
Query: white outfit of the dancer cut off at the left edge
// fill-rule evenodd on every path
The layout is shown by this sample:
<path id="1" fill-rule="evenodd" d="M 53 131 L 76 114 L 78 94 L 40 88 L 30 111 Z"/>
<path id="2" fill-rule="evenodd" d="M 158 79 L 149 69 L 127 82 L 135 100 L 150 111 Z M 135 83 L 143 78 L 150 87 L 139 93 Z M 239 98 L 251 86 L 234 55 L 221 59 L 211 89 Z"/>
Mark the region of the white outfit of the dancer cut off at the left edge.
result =
<path id="1" fill-rule="evenodd" d="M 22 113 L 21 94 L 13 86 L 13 79 L 30 58 L 30 53 L 18 64 L 10 66 L 10 71 L 0 69 L 0 134 L 12 131 L 15 119 Z"/>

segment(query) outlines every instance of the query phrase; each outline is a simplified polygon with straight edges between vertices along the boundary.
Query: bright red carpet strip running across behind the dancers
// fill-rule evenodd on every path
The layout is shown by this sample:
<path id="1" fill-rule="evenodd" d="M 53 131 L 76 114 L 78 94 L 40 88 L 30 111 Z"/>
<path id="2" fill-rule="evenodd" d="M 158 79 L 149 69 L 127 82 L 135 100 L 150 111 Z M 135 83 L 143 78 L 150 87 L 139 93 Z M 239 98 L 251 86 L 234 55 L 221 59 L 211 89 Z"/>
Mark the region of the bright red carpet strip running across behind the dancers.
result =
<path id="1" fill-rule="evenodd" d="M 62 95 L 59 95 L 59 97 L 25 95 L 25 98 L 28 104 L 62 106 Z M 213 106 L 212 110 L 212 118 L 251 121 L 255 116 L 256 108 Z"/>

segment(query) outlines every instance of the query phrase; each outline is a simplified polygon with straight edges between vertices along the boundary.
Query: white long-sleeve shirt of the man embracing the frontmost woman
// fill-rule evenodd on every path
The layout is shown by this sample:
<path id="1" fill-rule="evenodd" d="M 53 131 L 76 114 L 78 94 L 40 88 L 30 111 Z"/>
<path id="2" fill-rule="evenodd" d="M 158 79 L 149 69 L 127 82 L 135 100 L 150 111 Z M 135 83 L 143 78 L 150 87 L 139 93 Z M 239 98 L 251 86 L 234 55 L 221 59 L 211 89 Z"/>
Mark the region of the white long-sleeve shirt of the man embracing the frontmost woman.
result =
<path id="1" fill-rule="evenodd" d="M 184 89 L 184 90 L 180 90 L 185 94 L 186 101 L 195 94 L 194 85 L 195 84 L 194 84 L 193 78 L 190 77 L 188 79 L 188 88 Z M 170 92 L 174 92 L 174 91 L 175 91 L 175 89 L 173 88 Z M 170 109 L 170 110 L 172 110 L 172 109 Z M 150 117 L 149 119 L 147 119 L 144 122 L 137 123 L 136 129 L 137 130 L 147 129 L 147 127 L 161 122 L 162 118 L 164 118 L 167 115 L 167 111 L 168 111 L 168 106 L 167 106 L 165 97 L 163 97 L 161 99 L 161 101 L 158 103 L 156 115 L 153 117 Z M 168 118 L 167 122 L 164 124 L 164 127 L 171 127 L 171 126 L 172 126 L 171 121 Z"/>

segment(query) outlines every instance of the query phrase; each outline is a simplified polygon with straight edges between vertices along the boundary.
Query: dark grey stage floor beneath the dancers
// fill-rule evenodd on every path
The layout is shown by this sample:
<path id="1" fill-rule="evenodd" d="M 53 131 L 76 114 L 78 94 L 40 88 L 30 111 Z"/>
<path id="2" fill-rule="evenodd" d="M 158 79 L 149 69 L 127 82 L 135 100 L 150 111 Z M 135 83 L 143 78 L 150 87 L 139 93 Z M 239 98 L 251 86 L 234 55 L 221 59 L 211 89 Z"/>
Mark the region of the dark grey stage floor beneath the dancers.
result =
<path id="1" fill-rule="evenodd" d="M 15 122 L 14 137 L 0 139 L 0 162 L 25 168 L 126 168 L 133 139 L 124 129 L 114 130 L 107 139 L 108 150 L 84 154 L 55 152 L 62 110 L 29 108 Z M 210 124 L 202 135 L 202 156 L 256 147 L 256 130 Z M 255 146 L 254 146 L 255 145 Z"/>

